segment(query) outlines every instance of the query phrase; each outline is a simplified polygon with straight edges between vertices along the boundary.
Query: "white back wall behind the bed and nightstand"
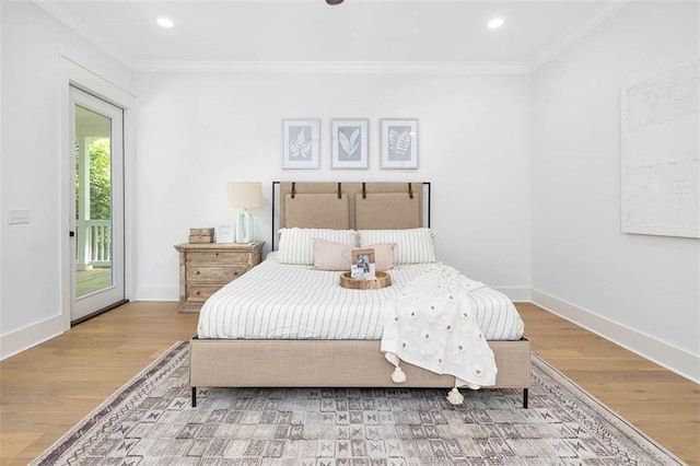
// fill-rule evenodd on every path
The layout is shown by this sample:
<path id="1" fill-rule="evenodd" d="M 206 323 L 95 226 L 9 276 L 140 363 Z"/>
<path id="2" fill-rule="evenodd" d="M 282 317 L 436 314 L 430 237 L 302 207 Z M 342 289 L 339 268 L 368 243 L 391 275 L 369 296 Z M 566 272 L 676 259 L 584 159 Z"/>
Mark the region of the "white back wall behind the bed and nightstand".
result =
<path id="1" fill-rule="evenodd" d="M 139 72 L 137 290 L 177 298 L 190 228 L 231 221 L 225 183 L 260 180 L 256 236 L 270 242 L 272 180 L 428 180 L 438 255 L 528 299 L 526 75 Z M 282 171 L 281 119 L 322 119 L 322 168 Z M 370 118 L 370 168 L 330 170 L 330 118 Z M 380 170 L 380 118 L 419 119 L 419 170 Z"/>

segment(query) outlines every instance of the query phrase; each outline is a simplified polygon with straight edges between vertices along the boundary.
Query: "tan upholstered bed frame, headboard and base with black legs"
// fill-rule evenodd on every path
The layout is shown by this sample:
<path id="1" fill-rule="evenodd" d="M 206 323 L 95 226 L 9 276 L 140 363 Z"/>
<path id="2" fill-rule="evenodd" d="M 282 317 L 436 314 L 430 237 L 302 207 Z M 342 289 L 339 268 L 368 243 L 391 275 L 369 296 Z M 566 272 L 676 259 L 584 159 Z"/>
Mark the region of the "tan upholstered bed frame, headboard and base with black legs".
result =
<path id="1" fill-rule="evenodd" d="M 430 184 L 425 183 L 276 182 L 273 197 L 276 189 L 281 228 L 372 230 L 430 225 Z M 273 231 L 272 237 L 276 235 Z M 523 408 L 527 408 L 529 341 L 489 341 L 489 346 L 498 366 L 495 385 L 489 388 L 523 389 Z M 401 369 L 407 381 L 394 383 L 394 366 L 380 352 L 378 340 L 194 337 L 189 349 L 192 407 L 197 406 L 197 387 L 454 387 L 454 376 L 406 362 L 401 362 Z"/>

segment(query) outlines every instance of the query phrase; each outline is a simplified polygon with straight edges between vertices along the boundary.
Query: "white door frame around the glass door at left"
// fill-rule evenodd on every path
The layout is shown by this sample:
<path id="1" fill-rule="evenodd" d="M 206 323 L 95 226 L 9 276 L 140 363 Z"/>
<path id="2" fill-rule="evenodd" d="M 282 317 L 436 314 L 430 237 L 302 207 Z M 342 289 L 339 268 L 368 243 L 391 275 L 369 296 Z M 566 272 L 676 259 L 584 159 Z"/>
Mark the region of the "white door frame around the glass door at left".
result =
<path id="1" fill-rule="evenodd" d="M 60 196 L 58 196 L 59 212 L 59 287 L 60 287 L 60 314 L 62 329 L 71 327 L 71 305 L 72 305 L 72 273 L 74 258 L 72 257 L 71 238 L 69 231 L 71 225 L 71 198 L 74 186 L 71 183 L 71 170 L 74 164 L 74 153 L 71 151 L 70 142 L 70 86 L 78 88 L 93 94 L 117 107 L 124 109 L 124 293 L 125 299 L 132 295 L 133 289 L 133 214 L 131 206 L 133 199 L 131 193 L 133 183 L 133 160 L 135 138 L 133 138 L 133 109 L 136 96 L 128 91 L 117 86 L 110 81 L 93 73 L 89 69 L 72 61 L 66 56 L 61 56 L 61 104 L 59 105 L 60 116 L 60 150 L 59 150 L 59 173 L 60 173 Z"/>

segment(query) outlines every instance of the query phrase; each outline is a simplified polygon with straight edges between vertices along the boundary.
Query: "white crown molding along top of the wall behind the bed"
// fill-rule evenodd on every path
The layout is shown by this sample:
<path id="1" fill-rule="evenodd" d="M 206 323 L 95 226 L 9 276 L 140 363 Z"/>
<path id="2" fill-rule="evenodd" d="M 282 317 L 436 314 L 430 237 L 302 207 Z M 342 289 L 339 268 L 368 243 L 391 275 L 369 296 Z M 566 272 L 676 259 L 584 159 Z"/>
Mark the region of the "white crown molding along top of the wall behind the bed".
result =
<path id="1" fill-rule="evenodd" d="M 444 61 L 137 61 L 136 72 L 527 74 L 520 62 Z"/>

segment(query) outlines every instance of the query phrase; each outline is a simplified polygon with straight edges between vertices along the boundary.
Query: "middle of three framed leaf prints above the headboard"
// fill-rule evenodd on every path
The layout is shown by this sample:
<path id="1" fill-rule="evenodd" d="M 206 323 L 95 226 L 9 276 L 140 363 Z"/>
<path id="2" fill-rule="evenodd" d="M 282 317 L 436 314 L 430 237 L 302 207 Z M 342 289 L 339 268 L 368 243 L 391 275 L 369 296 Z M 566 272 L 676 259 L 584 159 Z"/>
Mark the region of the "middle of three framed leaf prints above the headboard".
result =
<path id="1" fill-rule="evenodd" d="M 370 166 L 368 156 L 369 128 L 369 119 L 330 120 L 330 166 L 332 168 L 366 168 Z"/>

